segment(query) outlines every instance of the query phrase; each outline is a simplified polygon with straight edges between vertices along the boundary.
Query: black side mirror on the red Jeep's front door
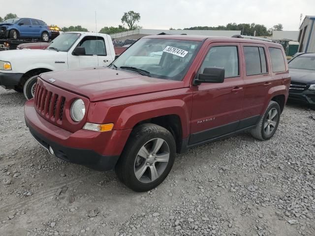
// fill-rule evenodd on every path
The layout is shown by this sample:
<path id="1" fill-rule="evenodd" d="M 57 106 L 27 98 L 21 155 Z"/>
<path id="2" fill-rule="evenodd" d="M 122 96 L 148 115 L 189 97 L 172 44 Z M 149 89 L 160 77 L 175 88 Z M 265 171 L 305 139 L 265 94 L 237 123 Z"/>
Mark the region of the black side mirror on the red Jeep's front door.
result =
<path id="1" fill-rule="evenodd" d="M 201 83 L 223 83 L 224 82 L 224 68 L 208 67 L 204 68 L 203 73 L 199 74 L 198 79 L 195 79 L 193 84 L 200 85 Z"/>

